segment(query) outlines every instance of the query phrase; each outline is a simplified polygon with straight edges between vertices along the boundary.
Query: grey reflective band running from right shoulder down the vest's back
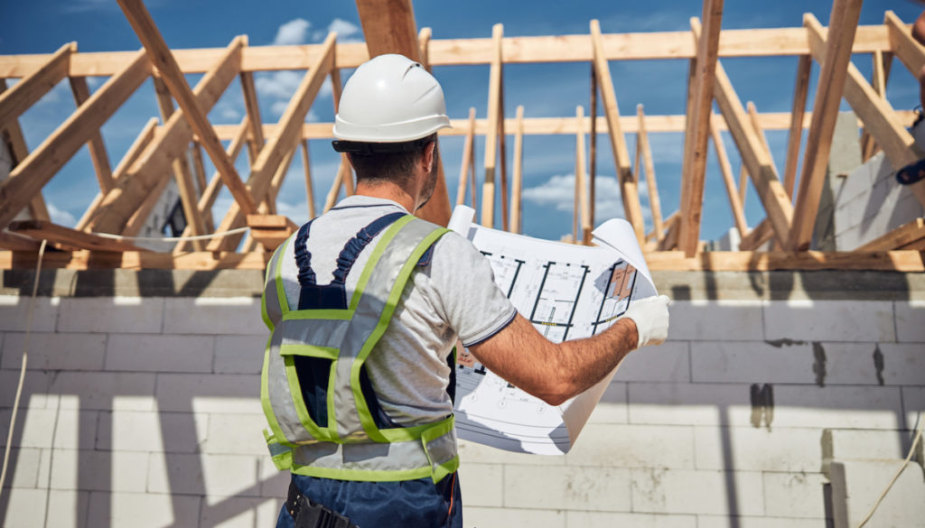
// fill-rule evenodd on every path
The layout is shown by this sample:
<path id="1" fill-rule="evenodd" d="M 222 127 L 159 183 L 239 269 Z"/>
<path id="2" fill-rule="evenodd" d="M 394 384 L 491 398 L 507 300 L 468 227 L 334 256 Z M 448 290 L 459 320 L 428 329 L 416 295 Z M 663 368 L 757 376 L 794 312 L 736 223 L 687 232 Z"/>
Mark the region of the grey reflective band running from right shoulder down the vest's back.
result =
<path id="1" fill-rule="evenodd" d="M 401 267 L 408 262 L 414 248 L 437 226 L 414 219 L 401 228 L 375 263 L 369 281 L 357 303 L 350 321 L 350 330 L 340 345 L 337 378 L 334 387 L 334 408 L 337 410 L 338 434 L 347 437 L 362 432 L 360 414 L 351 390 L 351 367 L 366 341 L 376 329 L 386 308 L 388 295 L 395 285 Z M 374 343 L 375 344 L 375 343 Z"/>

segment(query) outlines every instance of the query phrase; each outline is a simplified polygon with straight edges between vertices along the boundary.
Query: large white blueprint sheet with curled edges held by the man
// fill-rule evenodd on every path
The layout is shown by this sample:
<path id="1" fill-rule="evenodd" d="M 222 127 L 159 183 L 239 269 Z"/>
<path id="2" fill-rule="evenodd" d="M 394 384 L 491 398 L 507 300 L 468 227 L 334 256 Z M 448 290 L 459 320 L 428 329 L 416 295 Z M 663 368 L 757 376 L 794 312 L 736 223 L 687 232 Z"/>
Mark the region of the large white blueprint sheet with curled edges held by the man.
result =
<path id="1" fill-rule="evenodd" d="M 595 229 L 597 246 L 578 246 L 476 226 L 474 213 L 457 206 L 450 229 L 472 240 L 491 263 L 499 288 L 549 340 L 593 336 L 610 326 L 630 302 L 657 295 L 625 220 L 609 220 Z M 458 434 L 510 451 L 566 453 L 615 372 L 553 407 L 513 387 L 462 351 L 454 409 Z"/>

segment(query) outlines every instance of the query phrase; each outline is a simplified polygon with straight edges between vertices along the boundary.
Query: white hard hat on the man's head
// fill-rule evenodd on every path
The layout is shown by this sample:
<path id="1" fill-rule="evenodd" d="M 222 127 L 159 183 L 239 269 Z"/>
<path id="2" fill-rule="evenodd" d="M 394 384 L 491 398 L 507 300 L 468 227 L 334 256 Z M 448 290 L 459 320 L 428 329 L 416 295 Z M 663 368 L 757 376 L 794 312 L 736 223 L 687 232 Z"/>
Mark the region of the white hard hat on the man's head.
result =
<path id="1" fill-rule="evenodd" d="M 334 137 L 342 141 L 414 141 L 445 128 L 440 84 L 404 55 L 378 55 L 356 68 L 334 118 Z"/>

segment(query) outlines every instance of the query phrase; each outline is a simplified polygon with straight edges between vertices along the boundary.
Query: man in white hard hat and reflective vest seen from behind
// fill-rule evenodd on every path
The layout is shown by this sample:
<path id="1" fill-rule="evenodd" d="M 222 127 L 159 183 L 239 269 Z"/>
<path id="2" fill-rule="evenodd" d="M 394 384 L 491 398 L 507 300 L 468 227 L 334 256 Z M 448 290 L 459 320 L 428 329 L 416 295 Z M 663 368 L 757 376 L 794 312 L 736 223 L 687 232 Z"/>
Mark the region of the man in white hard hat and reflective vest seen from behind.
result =
<path id="1" fill-rule="evenodd" d="M 410 215 L 434 191 L 437 130 L 449 126 L 443 92 L 421 65 L 381 55 L 357 68 L 334 125 L 356 194 L 303 226 L 267 266 L 265 436 L 277 467 L 292 473 L 277 526 L 462 526 L 457 338 L 498 375 L 559 405 L 667 335 L 662 297 L 636 302 L 594 338 L 551 343 L 516 313 L 468 240 Z"/>

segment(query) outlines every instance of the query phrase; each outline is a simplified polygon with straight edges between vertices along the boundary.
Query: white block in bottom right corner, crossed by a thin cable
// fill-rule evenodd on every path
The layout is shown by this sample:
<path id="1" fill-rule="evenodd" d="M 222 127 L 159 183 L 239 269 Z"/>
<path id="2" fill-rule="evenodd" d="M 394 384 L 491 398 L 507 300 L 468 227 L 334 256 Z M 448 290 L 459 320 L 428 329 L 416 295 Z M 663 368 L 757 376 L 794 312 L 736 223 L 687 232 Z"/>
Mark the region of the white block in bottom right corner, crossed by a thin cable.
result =
<path id="1" fill-rule="evenodd" d="M 832 505 L 835 528 L 857 526 L 889 484 L 902 460 L 833 460 Z M 870 526 L 925 527 L 925 474 L 911 463 L 870 518 Z"/>

